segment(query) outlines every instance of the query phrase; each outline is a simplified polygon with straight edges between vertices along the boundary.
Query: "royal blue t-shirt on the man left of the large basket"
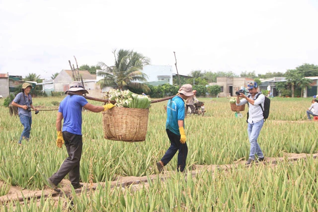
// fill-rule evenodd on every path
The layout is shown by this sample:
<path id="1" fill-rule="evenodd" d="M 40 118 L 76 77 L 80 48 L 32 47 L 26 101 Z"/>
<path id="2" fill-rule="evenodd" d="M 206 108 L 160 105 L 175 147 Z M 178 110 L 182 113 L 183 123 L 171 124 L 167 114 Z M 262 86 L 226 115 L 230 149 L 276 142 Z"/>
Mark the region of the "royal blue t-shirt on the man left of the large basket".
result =
<path id="1" fill-rule="evenodd" d="M 87 100 L 83 96 L 65 97 L 60 103 L 59 112 L 63 114 L 63 132 L 81 135 L 81 111 Z"/>

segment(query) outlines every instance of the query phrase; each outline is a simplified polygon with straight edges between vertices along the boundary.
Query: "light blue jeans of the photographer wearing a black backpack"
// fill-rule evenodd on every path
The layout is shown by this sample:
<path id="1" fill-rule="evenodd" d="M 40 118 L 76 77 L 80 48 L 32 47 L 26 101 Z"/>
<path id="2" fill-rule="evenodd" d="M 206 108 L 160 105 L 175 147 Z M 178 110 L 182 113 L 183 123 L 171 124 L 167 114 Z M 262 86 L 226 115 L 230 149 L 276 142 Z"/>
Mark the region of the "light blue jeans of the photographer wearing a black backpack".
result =
<path id="1" fill-rule="evenodd" d="M 260 133 L 260 130 L 263 127 L 263 124 L 264 120 L 262 119 L 257 123 L 248 123 L 247 126 L 248 140 L 250 143 L 249 158 L 252 160 L 255 159 L 255 154 L 257 154 L 258 157 L 264 157 L 264 154 L 257 143 L 257 138 Z"/>

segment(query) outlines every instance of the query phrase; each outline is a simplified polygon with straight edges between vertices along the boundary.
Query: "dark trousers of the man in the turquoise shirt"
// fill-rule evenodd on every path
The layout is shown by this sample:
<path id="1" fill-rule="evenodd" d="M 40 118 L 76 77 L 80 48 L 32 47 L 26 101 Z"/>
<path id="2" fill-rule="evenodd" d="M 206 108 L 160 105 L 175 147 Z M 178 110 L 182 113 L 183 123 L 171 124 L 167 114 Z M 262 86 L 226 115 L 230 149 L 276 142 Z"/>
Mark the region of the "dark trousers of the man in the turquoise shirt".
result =
<path id="1" fill-rule="evenodd" d="M 183 171 L 185 168 L 185 161 L 188 156 L 188 146 L 187 143 L 180 143 L 180 136 L 175 135 L 168 129 L 166 129 L 168 138 L 170 140 L 170 147 L 167 149 L 163 157 L 161 158 L 161 161 L 163 162 L 163 165 L 166 165 L 172 157 L 175 155 L 177 150 L 179 150 L 178 153 L 178 165 L 177 165 L 177 171 Z"/>

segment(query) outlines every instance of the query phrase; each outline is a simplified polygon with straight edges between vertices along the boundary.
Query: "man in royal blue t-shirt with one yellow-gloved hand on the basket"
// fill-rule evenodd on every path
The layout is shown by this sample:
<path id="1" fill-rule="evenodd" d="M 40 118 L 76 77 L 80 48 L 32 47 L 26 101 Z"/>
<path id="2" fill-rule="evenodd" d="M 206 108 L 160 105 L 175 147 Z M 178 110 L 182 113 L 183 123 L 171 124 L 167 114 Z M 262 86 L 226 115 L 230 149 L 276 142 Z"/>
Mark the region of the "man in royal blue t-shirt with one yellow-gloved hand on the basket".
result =
<path id="1" fill-rule="evenodd" d="M 88 93 L 88 91 L 84 89 L 79 81 L 72 82 L 70 89 L 67 90 L 65 94 L 67 94 L 68 91 L 72 91 L 77 95 L 68 95 L 60 103 L 56 118 L 56 130 L 58 135 L 56 145 L 61 148 L 65 143 L 69 157 L 64 160 L 60 169 L 47 179 L 49 186 L 56 192 L 61 192 L 61 190 L 57 188 L 57 185 L 67 174 L 69 174 L 69 179 L 74 189 L 83 186 L 79 183 L 79 162 L 82 153 L 82 108 L 98 113 L 114 107 L 114 105 L 110 103 L 104 106 L 94 106 L 88 103 L 82 96 L 82 94 Z"/>

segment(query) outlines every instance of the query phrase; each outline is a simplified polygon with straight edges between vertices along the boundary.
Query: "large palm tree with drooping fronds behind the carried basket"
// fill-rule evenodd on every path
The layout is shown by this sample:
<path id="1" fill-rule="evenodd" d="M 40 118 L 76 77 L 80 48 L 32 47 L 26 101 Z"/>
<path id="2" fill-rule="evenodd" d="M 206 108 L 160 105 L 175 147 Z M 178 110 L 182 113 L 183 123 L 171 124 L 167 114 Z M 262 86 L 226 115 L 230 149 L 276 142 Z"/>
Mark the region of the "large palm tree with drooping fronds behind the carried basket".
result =
<path id="1" fill-rule="evenodd" d="M 133 87 L 149 92 L 149 87 L 142 83 L 146 82 L 148 78 L 142 70 L 144 65 L 150 63 L 150 59 L 131 50 L 120 49 L 118 52 L 115 50 L 113 54 L 115 56 L 114 66 L 107 66 L 103 62 L 98 63 L 98 66 L 103 69 L 98 72 L 98 75 L 104 77 L 99 81 L 100 86 L 115 86 L 119 89 Z"/>

